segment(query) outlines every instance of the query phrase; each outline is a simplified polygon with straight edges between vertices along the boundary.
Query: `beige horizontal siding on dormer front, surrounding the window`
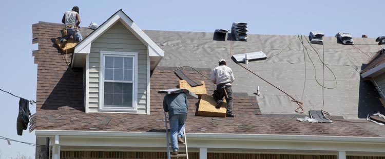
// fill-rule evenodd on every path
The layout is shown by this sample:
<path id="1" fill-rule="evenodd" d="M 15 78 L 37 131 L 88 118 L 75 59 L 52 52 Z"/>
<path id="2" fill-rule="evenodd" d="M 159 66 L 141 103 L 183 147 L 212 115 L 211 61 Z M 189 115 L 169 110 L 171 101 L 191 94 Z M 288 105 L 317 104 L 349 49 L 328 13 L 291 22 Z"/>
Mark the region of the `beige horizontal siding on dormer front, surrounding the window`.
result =
<path id="1" fill-rule="evenodd" d="M 147 106 L 147 47 L 121 22 L 117 22 L 91 44 L 89 57 L 89 112 L 98 112 L 100 51 L 138 52 L 138 112 Z"/>

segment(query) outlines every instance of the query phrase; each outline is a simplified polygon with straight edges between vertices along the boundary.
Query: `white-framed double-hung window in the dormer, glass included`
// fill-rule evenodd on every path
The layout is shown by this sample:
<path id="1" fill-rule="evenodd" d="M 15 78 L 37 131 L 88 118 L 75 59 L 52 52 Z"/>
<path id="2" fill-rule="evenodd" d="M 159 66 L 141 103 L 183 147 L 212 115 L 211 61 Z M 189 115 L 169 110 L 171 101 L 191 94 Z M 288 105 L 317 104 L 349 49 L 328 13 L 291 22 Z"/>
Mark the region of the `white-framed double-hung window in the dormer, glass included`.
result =
<path id="1" fill-rule="evenodd" d="M 138 53 L 101 51 L 100 110 L 136 111 Z"/>

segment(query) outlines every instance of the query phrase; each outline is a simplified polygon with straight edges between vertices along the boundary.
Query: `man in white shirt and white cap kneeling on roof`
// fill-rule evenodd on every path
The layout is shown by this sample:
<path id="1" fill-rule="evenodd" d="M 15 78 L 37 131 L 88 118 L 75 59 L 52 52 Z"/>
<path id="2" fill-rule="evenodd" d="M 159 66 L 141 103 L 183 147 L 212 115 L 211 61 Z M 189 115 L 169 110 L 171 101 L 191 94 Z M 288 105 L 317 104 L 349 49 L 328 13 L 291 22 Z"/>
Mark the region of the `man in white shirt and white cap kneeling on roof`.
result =
<path id="1" fill-rule="evenodd" d="M 213 69 L 210 79 L 217 85 L 213 97 L 217 102 L 216 108 L 220 108 L 223 104 L 223 97 L 226 97 L 227 110 L 226 117 L 235 117 L 233 112 L 233 89 L 232 83 L 235 80 L 233 70 L 226 66 L 224 59 L 219 60 L 219 66 Z"/>

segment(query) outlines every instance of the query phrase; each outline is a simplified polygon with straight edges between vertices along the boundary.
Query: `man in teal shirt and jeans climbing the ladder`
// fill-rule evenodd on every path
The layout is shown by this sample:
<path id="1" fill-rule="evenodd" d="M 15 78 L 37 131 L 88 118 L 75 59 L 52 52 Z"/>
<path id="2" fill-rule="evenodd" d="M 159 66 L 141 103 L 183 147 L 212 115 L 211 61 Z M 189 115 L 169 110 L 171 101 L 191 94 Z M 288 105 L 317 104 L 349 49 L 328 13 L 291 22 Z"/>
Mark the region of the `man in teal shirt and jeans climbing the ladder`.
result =
<path id="1" fill-rule="evenodd" d="M 184 123 L 187 117 L 188 101 L 184 92 L 166 94 L 163 99 L 163 109 L 168 112 L 170 121 L 170 136 L 172 155 L 178 154 L 178 143 L 183 144 Z"/>

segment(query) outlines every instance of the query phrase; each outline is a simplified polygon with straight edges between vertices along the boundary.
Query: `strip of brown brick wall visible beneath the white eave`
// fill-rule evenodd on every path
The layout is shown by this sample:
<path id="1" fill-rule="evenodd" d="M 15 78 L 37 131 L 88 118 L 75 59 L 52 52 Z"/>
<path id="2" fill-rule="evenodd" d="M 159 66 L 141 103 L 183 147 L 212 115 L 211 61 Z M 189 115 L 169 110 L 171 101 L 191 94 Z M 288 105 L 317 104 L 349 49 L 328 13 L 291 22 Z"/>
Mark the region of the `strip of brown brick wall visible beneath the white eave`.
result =
<path id="1" fill-rule="evenodd" d="M 190 159 L 199 158 L 198 152 L 188 153 Z M 104 151 L 61 151 L 62 159 L 101 159 L 101 158 L 167 158 L 166 152 L 104 152 Z M 181 157 L 183 158 L 183 157 Z M 337 159 L 336 155 L 300 154 L 249 154 L 249 153 L 207 153 L 207 159 Z M 385 159 L 385 156 L 347 156 L 347 159 Z"/>

